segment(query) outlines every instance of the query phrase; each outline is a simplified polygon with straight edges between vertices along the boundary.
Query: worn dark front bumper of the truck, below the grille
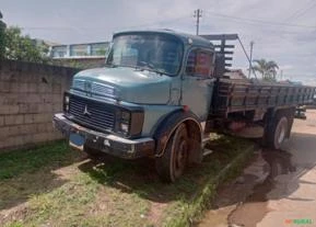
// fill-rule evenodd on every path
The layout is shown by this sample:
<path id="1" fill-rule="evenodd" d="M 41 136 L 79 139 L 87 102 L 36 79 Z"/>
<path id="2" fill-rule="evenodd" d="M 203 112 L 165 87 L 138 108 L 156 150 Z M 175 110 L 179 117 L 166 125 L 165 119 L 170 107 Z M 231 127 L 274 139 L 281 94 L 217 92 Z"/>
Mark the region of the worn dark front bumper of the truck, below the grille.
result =
<path id="1" fill-rule="evenodd" d="M 137 159 L 153 156 L 154 140 L 150 137 L 139 139 L 126 139 L 119 136 L 104 134 L 89 129 L 67 120 L 62 113 L 54 115 L 54 126 L 63 135 L 77 133 L 85 138 L 85 146 L 100 151 L 117 156 L 125 159 Z"/>

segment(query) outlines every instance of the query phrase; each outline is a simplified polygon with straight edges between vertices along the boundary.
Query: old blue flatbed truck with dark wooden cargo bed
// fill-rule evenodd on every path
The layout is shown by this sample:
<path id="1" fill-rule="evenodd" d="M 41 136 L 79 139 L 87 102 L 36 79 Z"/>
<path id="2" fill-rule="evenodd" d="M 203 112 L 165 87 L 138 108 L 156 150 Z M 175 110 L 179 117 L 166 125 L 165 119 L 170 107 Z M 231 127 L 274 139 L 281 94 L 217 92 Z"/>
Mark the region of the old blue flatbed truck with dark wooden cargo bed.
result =
<path id="1" fill-rule="evenodd" d="M 73 77 L 54 125 L 71 147 L 91 156 L 153 158 L 165 182 L 202 161 L 210 132 L 261 137 L 279 149 L 295 107 L 311 102 L 315 88 L 227 77 L 229 42 L 237 38 L 171 30 L 116 33 L 105 66 Z"/>

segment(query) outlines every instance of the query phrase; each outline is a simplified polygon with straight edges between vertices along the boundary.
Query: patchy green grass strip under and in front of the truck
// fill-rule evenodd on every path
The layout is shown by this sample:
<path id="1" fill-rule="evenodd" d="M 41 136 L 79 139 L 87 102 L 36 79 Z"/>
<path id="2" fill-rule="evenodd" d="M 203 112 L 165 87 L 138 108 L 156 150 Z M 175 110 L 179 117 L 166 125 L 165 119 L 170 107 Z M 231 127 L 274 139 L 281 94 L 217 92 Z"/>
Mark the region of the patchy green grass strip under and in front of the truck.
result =
<path id="1" fill-rule="evenodd" d="M 174 184 L 160 181 L 153 160 L 90 160 L 62 141 L 2 154 L 0 225 L 187 226 L 219 182 L 238 174 L 249 155 L 241 151 L 250 146 L 213 136 L 209 148 L 216 151 Z"/>

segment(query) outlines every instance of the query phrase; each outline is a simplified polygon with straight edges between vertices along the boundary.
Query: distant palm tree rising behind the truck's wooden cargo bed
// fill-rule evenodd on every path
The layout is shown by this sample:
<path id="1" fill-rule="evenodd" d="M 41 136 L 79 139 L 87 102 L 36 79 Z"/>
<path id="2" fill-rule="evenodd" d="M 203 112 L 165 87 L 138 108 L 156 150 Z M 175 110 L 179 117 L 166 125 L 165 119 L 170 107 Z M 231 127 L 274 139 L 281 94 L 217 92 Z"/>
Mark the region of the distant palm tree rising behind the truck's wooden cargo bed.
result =
<path id="1" fill-rule="evenodd" d="M 266 59 L 256 59 L 254 60 L 257 65 L 255 65 L 253 68 L 255 71 L 258 71 L 261 73 L 262 80 L 274 80 L 277 76 L 277 70 L 279 69 L 279 66 L 276 61 Z"/>

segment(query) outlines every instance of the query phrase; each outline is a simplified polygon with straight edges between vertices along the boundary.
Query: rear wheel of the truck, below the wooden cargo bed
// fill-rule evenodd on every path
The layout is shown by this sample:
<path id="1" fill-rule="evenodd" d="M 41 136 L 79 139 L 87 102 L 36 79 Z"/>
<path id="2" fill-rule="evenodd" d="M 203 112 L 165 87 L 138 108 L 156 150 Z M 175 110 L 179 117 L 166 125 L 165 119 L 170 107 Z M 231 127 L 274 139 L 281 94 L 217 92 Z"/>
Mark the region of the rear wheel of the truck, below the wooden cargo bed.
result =
<path id="1" fill-rule="evenodd" d="M 285 115 L 277 114 L 271 128 L 268 130 L 268 146 L 280 149 L 289 132 L 289 120 Z"/>

